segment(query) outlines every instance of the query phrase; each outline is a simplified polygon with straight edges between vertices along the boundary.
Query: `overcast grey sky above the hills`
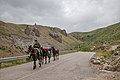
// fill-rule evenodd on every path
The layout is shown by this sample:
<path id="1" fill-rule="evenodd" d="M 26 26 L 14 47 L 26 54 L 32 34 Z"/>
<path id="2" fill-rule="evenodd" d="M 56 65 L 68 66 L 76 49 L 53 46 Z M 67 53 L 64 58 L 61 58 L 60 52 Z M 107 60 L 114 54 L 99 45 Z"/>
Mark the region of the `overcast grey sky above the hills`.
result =
<path id="1" fill-rule="evenodd" d="M 91 31 L 120 21 L 120 0 L 0 0 L 0 20 Z"/>

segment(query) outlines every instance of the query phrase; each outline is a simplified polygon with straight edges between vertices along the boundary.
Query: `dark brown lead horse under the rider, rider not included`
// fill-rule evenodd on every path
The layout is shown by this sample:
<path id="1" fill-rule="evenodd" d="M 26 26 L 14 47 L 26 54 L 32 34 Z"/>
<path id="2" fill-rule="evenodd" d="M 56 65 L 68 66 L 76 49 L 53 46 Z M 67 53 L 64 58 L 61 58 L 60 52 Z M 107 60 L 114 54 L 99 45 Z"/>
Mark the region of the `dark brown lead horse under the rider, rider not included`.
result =
<path id="1" fill-rule="evenodd" d="M 39 61 L 39 67 L 41 67 L 41 60 L 40 60 L 40 54 L 39 50 L 37 48 L 33 48 L 31 45 L 28 47 L 27 53 L 30 53 L 29 58 L 32 57 L 34 63 L 33 63 L 33 70 L 36 69 L 36 61 Z"/>

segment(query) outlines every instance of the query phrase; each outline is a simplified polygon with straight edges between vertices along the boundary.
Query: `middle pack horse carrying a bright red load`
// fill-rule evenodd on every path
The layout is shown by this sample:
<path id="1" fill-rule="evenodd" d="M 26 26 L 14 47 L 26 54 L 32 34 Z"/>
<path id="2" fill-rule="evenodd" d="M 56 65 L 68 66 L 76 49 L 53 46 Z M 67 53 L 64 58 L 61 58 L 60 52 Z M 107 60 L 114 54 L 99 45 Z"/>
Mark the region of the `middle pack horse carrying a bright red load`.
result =
<path id="1" fill-rule="evenodd" d="M 47 57 L 48 57 L 48 62 L 50 63 L 51 49 L 41 47 L 40 52 L 42 54 L 42 64 L 44 63 L 44 59 L 45 59 L 45 64 L 47 64 Z"/>

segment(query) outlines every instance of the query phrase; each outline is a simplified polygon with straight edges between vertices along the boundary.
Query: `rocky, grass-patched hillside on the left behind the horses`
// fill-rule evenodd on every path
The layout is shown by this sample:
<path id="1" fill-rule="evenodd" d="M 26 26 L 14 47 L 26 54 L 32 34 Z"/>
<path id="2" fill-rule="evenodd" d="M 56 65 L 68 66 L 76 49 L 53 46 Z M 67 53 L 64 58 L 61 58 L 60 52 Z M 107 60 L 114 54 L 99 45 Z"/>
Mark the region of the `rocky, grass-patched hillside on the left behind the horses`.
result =
<path id="1" fill-rule="evenodd" d="M 56 27 L 0 21 L 0 57 L 24 55 L 35 39 L 43 47 L 55 46 L 60 50 L 74 49 L 79 44 L 66 30 Z"/>

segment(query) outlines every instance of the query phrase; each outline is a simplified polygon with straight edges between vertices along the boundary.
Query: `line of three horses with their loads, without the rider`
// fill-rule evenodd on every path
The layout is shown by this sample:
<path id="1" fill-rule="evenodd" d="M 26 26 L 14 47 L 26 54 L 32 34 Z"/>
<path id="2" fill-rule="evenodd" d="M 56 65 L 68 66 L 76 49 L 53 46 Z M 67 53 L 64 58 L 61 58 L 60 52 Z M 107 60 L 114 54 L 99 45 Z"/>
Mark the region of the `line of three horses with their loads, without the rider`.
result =
<path id="1" fill-rule="evenodd" d="M 59 59 L 59 50 L 56 49 L 55 47 L 50 47 L 50 48 L 41 47 L 40 49 L 38 49 L 30 45 L 28 47 L 27 53 L 30 54 L 29 58 L 32 57 L 34 61 L 33 70 L 36 69 L 37 60 L 39 62 L 39 67 L 41 67 L 41 65 L 44 63 L 45 64 L 50 63 L 52 54 L 53 54 L 53 61 Z"/>

